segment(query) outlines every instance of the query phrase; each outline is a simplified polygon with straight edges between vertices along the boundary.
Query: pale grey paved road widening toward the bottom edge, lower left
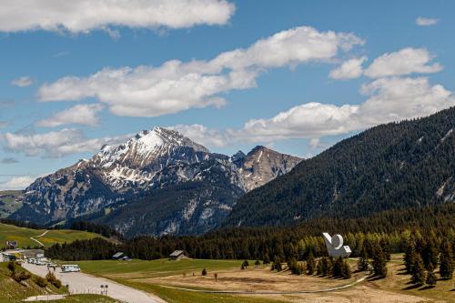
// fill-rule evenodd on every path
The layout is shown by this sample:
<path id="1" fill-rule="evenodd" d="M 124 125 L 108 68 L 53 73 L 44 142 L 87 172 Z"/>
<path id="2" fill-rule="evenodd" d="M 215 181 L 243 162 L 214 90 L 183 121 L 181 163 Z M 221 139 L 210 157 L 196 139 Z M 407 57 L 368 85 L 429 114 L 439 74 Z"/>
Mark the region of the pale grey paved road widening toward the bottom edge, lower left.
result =
<path id="1" fill-rule="evenodd" d="M 45 277 L 47 274 L 47 267 L 45 266 L 26 263 L 24 268 L 37 276 Z M 101 285 L 107 285 L 107 296 L 127 303 L 166 303 L 157 296 L 135 288 L 128 288 L 106 278 L 96 278 L 80 272 L 62 273 L 60 268 L 56 268 L 55 273 L 56 278 L 60 279 L 64 285 L 69 285 L 69 291 L 72 294 L 100 294 Z"/>

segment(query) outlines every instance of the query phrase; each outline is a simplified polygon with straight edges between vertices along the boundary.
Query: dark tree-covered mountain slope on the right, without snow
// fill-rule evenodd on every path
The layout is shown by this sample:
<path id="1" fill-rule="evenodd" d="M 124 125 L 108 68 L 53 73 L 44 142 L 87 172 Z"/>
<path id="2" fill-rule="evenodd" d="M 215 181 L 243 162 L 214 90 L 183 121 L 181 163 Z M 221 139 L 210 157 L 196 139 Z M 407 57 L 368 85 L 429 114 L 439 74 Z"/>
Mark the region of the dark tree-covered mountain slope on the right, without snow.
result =
<path id="1" fill-rule="evenodd" d="M 225 225 L 291 225 L 453 203 L 454 156 L 455 107 L 376 126 L 251 190 L 238 200 Z"/>

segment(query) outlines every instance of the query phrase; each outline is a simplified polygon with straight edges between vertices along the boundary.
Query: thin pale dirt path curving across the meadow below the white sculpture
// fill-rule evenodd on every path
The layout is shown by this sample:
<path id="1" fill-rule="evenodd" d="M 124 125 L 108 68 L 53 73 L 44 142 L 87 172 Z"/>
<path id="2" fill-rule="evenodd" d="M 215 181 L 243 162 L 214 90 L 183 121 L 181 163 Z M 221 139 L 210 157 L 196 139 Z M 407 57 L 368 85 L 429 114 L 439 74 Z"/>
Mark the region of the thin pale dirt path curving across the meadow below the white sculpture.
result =
<path id="1" fill-rule="evenodd" d="M 275 291 L 275 290 L 262 290 L 262 291 L 246 291 L 246 290 L 204 290 L 204 289 L 192 289 L 192 288 L 178 288 L 166 285 L 160 285 L 163 288 L 173 288 L 179 290 L 187 290 L 193 292 L 203 292 L 206 294 L 238 294 L 238 295 L 292 295 L 292 294 L 316 294 L 319 292 L 329 292 L 335 291 L 344 288 L 353 287 L 356 284 L 364 281 L 367 277 L 359 278 L 352 283 L 336 287 L 336 288 L 326 288 L 319 290 L 295 290 L 295 291 Z"/>

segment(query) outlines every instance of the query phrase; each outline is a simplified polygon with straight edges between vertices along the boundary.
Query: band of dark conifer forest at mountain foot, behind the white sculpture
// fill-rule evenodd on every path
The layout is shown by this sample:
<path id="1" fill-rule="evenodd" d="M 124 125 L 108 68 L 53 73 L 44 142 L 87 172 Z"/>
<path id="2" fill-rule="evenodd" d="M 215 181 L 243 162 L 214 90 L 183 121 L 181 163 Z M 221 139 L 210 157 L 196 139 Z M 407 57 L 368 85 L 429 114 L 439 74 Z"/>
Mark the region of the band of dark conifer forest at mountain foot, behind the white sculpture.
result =
<path id="1" fill-rule="evenodd" d="M 184 249 L 192 258 L 260 259 L 283 261 L 327 255 L 321 233 L 340 233 L 352 256 L 359 256 L 364 243 L 383 241 L 388 253 L 405 252 L 411 235 L 429 238 L 440 246 L 455 247 L 454 204 L 437 207 L 393 209 L 364 218 L 326 217 L 295 227 L 225 228 L 202 236 L 134 237 L 116 245 L 97 238 L 55 245 L 45 250 L 49 258 L 64 260 L 109 259 L 117 251 L 131 258 L 167 258 Z M 371 247 L 373 247 L 371 245 Z"/>

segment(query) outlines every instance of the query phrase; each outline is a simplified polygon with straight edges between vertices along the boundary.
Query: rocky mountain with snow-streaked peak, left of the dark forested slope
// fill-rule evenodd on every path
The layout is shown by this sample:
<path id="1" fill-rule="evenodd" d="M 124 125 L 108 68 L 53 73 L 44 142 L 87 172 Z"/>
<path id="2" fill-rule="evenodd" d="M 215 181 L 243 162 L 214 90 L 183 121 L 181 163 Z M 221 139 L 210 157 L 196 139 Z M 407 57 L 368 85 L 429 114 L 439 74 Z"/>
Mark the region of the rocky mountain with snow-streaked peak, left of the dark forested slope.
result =
<path id="1" fill-rule="evenodd" d="M 126 234 L 201 233 L 248 190 L 299 161 L 263 146 L 234 157 L 210 153 L 177 131 L 155 127 L 36 179 L 11 217 L 40 224 L 85 217 Z"/>

